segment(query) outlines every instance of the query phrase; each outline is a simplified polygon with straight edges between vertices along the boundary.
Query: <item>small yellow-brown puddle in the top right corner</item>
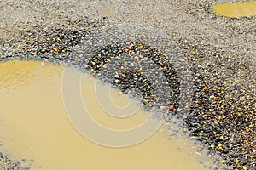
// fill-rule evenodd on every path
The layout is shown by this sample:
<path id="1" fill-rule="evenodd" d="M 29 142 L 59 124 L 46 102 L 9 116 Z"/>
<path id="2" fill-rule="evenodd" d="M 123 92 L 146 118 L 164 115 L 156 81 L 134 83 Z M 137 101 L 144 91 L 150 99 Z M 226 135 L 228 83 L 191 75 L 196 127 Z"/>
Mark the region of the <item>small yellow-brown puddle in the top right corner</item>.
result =
<path id="1" fill-rule="evenodd" d="M 250 17 L 256 15 L 256 1 L 241 3 L 216 3 L 212 5 L 212 9 L 214 13 L 227 17 Z"/>

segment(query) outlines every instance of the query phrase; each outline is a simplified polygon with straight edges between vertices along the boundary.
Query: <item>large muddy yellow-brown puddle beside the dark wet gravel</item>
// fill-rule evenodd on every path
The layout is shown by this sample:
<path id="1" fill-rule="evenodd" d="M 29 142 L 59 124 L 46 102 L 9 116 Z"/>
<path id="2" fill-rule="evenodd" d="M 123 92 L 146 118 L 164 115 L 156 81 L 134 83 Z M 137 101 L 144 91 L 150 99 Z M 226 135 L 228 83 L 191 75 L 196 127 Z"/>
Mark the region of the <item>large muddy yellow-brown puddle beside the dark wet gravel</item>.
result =
<path id="1" fill-rule="evenodd" d="M 71 125 L 61 98 L 64 68 L 33 61 L 9 61 L 0 64 L 0 150 L 20 161 L 24 158 L 33 169 L 207 169 L 200 161 L 209 159 L 195 154 L 190 139 L 168 136 L 162 126 L 141 144 L 126 148 L 108 148 L 84 139 Z M 128 121 L 115 120 L 96 105 L 91 93 L 95 79 L 84 75 L 83 99 L 90 99 L 89 110 L 103 126 L 124 129 L 136 126 L 148 116 L 142 109 Z M 111 89 L 115 105 L 129 102 L 125 95 Z M 87 96 L 87 97 L 85 97 Z M 171 138 L 171 139 L 170 139 Z M 24 163 L 24 166 L 27 163 Z"/>

